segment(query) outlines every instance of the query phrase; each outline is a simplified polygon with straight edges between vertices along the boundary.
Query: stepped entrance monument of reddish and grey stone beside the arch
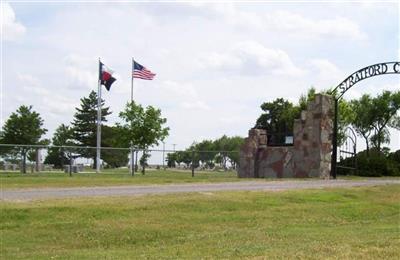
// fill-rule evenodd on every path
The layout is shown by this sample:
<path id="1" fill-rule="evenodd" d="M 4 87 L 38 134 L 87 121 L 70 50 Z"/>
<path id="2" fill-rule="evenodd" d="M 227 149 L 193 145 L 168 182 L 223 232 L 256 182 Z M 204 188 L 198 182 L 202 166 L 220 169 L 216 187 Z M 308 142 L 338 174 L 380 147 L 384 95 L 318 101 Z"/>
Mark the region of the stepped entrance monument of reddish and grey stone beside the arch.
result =
<path id="1" fill-rule="evenodd" d="M 240 149 L 241 178 L 329 178 L 333 133 L 333 99 L 317 94 L 293 129 L 293 146 L 268 147 L 267 132 L 251 129 Z"/>

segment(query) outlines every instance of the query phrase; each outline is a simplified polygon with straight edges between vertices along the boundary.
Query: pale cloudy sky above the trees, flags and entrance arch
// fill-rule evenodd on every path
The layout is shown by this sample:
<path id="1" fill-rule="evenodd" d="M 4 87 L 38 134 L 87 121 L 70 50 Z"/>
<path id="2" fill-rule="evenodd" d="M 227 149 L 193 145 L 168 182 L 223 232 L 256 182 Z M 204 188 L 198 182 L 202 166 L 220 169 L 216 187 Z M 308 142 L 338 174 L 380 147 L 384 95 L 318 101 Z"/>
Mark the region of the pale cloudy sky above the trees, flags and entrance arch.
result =
<path id="1" fill-rule="evenodd" d="M 0 125 L 32 105 L 47 138 L 97 91 L 99 58 L 117 78 L 102 91 L 108 124 L 130 100 L 132 57 L 157 74 L 134 80 L 134 100 L 167 118 L 166 149 L 245 137 L 263 102 L 297 102 L 311 86 L 324 90 L 362 67 L 400 60 L 396 1 L 1 3 Z M 398 89 L 400 77 L 385 75 L 345 98 Z M 390 148 L 400 148 L 399 131 L 391 130 Z"/>

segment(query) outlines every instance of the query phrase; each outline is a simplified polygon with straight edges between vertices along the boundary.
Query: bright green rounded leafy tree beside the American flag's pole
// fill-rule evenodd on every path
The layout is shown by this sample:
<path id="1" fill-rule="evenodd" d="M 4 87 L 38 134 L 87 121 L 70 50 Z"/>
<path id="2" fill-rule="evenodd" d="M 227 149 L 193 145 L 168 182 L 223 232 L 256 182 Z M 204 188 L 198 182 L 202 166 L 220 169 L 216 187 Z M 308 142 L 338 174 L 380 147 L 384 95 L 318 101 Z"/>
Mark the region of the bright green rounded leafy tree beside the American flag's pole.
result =
<path id="1" fill-rule="evenodd" d="M 152 106 L 144 109 L 134 101 L 128 102 L 125 109 L 119 114 L 122 123 L 117 126 L 120 129 L 121 141 L 128 146 L 135 146 L 146 151 L 152 145 L 158 145 L 168 136 L 169 127 L 163 125 L 166 118 L 161 117 L 161 110 Z M 146 158 L 145 158 L 146 159 Z M 145 172 L 145 164 L 143 174 Z"/>

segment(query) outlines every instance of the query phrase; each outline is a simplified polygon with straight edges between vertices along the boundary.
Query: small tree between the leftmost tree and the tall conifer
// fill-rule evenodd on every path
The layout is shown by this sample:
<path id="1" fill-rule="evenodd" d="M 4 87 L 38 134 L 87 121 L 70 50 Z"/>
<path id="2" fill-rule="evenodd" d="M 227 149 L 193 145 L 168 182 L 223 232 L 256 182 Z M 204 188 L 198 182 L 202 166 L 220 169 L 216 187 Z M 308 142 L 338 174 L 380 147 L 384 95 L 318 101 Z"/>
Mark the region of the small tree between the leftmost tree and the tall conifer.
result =
<path id="1" fill-rule="evenodd" d="M 54 146 L 73 146 L 73 138 L 73 129 L 61 124 L 54 132 L 51 143 Z M 72 154 L 68 149 L 51 147 L 44 162 L 46 164 L 53 164 L 55 168 L 62 168 L 64 164 L 69 164 L 71 159 Z"/>

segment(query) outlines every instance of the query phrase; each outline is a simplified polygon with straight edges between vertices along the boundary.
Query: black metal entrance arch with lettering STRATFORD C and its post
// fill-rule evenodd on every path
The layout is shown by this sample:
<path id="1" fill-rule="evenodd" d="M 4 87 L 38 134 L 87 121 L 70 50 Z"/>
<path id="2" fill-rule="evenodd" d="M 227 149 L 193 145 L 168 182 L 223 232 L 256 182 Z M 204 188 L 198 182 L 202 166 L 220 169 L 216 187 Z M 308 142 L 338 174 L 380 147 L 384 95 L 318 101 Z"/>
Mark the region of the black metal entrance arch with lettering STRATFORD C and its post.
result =
<path id="1" fill-rule="evenodd" d="M 333 121 L 331 177 L 336 179 L 337 173 L 337 132 L 338 132 L 338 104 L 343 95 L 356 83 L 375 76 L 400 74 L 400 61 L 382 62 L 362 68 L 343 80 L 331 95 L 335 97 L 335 116 Z"/>

